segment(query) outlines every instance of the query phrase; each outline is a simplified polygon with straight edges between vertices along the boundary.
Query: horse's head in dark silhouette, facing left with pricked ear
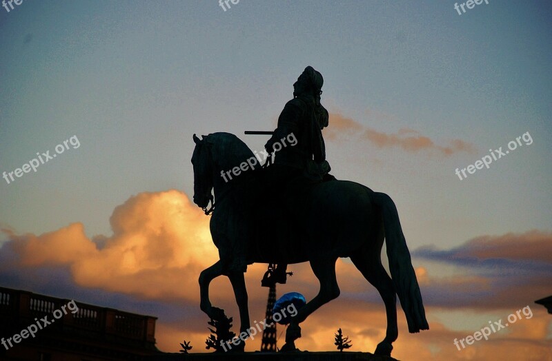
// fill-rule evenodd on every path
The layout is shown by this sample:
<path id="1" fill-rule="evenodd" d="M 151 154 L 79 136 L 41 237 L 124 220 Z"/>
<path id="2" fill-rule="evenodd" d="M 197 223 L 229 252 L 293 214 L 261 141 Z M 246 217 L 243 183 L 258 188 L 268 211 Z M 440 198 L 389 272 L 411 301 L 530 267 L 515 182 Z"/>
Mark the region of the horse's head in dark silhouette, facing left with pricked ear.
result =
<path id="1" fill-rule="evenodd" d="M 205 136 L 201 139 L 193 136 L 195 149 L 192 156 L 194 167 L 194 203 L 206 211 L 209 202 L 213 203 L 213 159 L 211 156 L 211 144 Z"/>

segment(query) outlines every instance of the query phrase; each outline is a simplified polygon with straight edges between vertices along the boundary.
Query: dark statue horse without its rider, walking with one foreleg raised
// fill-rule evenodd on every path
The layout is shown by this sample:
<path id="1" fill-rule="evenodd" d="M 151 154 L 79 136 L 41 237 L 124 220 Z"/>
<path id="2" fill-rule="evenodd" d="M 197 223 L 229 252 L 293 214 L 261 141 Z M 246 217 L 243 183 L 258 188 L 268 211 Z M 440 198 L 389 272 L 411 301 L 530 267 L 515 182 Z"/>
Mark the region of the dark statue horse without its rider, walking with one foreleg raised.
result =
<path id="1" fill-rule="evenodd" d="M 397 208 L 387 194 L 373 192 L 364 185 L 347 180 L 317 183 L 308 192 L 308 202 L 305 203 L 299 226 L 302 230 L 300 236 L 284 247 L 262 247 L 263 234 L 249 230 L 258 228 L 253 223 L 262 220 L 251 215 L 263 211 L 259 212 L 259 207 L 250 209 L 253 205 L 242 198 L 261 189 L 253 187 L 257 169 L 248 169 L 231 181 L 221 177 L 224 172 L 255 155 L 233 134 L 219 132 L 202 136 L 201 139 L 194 134 L 193 139 L 196 143 L 192 157 L 193 200 L 206 214 L 214 209 L 210 231 L 220 257 L 199 276 L 200 307 L 207 316 L 214 320 L 225 317 L 222 309 L 211 305 L 209 284 L 218 276 L 228 276 L 239 308 L 240 333 L 247 333 L 250 328 L 244 280 L 247 264 L 308 261 L 320 282 L 320 289 L 317 296 L 299 309 L 290 321 L 286 344 L 281 351 L 293 351 L 295 340 L 301 337 L 299 324 L 316 309 L 339 296 L 335 262 L 339 257 L 349 257 L 364 278 L 380 292 L 385 303 L 386 336 L 377 345 L 375 354 L 391 355 L 392 343 L 397 339 L 397 295 L 408 322 L 408 331 L 415 333 L 429 329 Z M 259 196 L 255 194 L 256 198 Z M 210 203 L 212 209 L 207 210 Z M 264 234 L 271 231 L 264 229 Z M 382 266 L 384 238 L 391 277 Z M 258 247 L 253 247 L 255 244 Z M 244 344 L 240 347 L 243 350 Z"/>

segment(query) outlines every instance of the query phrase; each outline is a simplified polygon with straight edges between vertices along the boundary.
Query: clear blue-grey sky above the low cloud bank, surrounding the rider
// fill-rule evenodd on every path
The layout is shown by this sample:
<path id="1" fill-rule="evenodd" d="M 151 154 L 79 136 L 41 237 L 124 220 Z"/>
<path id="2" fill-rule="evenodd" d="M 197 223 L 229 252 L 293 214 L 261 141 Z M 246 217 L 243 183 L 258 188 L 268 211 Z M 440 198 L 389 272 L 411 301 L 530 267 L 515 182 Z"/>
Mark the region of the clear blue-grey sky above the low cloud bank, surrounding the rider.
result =
<path id="1" fill-rule="evenodd" d="M 462 15 L 452 1 L 240 0 L 225 12 L 215 0 L 24 0 L 0 8 L 0 172 L 71 136 L 80 143 L 36 173 L 0 179 L 0 225 L 11 229 L 0 245 L 72 223 L 100 245 L 129 198 L 170 189 L 191 198 L 192 134 L 232 132 L 262 149 L 266 138 L 244 130 L 273 130 L 306 65 L 324 76 L 333 174 L 390 194 L 411 250 L 549 234 L 551 10 L 548 1 L 493 0 Z M 401 130 L 433 145 L 407 149 Z M 464 180 L 455 175 L 525 132 L 531 145 Z M 438 150 L 455 139 L 469 149 Z M 420 256 L 415 267 L 430 278 L 457 273 L 446 259 Z"/>

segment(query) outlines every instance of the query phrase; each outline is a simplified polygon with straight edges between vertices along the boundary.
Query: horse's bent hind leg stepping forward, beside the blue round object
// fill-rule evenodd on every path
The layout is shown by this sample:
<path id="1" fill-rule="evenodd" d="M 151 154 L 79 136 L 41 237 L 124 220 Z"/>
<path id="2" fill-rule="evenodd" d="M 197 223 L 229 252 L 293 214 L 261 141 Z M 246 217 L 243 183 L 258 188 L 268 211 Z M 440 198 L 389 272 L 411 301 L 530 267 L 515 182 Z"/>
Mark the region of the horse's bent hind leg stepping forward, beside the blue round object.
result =
<path id="1" fill-rule="evenodd" d="M 299 323 L 303 322 L 320 306 L 339 296 L 339 286 L 337 285 L 337 278 L 335 278 L 335 261 L 337 261 L 337 258 L 311 260 L 311 268 L 320 282 L 320 291 L 291 319 L 286 331 L 286 344 L 284 344 L 281 351 L 294 351 L 296 349 L 295 340 L 301 337 Z"/>

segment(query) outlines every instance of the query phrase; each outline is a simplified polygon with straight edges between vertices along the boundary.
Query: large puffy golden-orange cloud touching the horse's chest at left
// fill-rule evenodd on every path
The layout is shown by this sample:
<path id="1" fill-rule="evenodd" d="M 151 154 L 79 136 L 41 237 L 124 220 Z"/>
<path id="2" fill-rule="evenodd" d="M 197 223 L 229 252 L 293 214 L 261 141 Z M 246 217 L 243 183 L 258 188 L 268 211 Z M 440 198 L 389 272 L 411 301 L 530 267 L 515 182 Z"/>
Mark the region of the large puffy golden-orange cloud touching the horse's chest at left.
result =
<path id="1" fill-rule="evenodd" d="M 81 287 L 197 300 L 197 276 L 217 260 L 208 220 L 181 192 L 141 193 L 115 208 L 112 236 L 95 237 L 101 247 L 72 223 L 39 236 L 8 234 L 1 251 L 17 255 L 10 267 L 68 266 Z"/>

